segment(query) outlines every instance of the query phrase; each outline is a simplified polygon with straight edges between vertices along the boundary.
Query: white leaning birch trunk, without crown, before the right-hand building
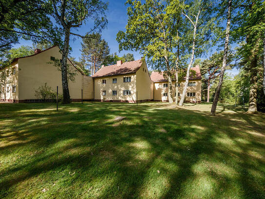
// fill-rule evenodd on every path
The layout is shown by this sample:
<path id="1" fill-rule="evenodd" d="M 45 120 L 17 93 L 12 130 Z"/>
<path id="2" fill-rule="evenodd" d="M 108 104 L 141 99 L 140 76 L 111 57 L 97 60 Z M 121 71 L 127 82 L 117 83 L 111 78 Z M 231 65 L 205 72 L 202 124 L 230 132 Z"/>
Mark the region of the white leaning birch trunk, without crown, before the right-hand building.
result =
<path id="1" fill-rule="evenodd" d="M 198 22 L 198 18 L 196 19 L 196 24 L 194 27 L 194 31 L 193 31 L 193 42 L 192 42 L 192 52 L 191 52 L 191 57 L 190 57 L 190 62 L 187 68 L 187 72 L 186 72 L 186 80 L 184 83 L 184 88 L 183 88 L 183 92 L 182 92 L 182 96 L 180 99 L 180 106 L 183 106 L 183 102 L 185 99 L 185 95 L 186 95 L 186 91 L 187 91 L 187 87 L 188 87 L 188 82 L 189 82 L 189 71 L 190 71 L 190 67 L 193 63 L 193 59 L 194 59 L 194 52 L 195 52 L 195 39 L 196 39 L 196 31 L 197 31 L 197 22 Z"/>

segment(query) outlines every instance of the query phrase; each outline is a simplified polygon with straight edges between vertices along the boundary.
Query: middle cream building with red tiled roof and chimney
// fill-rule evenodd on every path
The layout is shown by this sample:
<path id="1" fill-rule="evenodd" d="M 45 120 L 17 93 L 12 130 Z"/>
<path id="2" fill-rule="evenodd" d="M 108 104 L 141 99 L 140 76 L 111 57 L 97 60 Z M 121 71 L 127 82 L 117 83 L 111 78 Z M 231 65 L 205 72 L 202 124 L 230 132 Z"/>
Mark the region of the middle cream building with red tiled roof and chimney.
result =
<path id="1" fill-rule="evenodd" d="M 102 66 L 93 76 L 95 101 L 136 103 L 153 100 L 153 82 L 145 61 Z"/>

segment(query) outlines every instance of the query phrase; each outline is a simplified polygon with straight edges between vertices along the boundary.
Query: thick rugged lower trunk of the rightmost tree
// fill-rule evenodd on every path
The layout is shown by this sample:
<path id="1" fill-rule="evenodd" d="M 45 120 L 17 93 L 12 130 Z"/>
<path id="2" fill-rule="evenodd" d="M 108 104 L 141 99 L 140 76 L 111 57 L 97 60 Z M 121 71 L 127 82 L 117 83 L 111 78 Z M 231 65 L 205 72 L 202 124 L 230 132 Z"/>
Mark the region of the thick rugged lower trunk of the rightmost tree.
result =
<path id="1" fill-rule="evenodd" d="M 255 52 L 254 52 L 255 53 Z M 257 55 L 254 55 L 254 58 L 250 62 L 250 90 L 249 90 L 249 105 L 247 113 L 257 112 Z"/>

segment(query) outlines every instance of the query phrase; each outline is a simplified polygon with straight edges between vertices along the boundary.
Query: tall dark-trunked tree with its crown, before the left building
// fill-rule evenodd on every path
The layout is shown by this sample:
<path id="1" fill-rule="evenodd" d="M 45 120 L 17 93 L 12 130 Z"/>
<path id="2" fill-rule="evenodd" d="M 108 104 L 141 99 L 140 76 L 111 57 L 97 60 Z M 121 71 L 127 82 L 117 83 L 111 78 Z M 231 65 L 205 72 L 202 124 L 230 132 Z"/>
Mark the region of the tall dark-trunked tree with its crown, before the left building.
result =
<path id="1" fill-rule="evenodd" d="M 107 3 L 101 0 L 52 0 L 54 8 L 54 18 L 63 29 L 63 45 L 61 46 L 61 81 L 62 81 L 62 103 L 68 104 L 71 102 L 70 93 L 67 81 L 67 57 L 69 53 L 69 40 L 70 35 L 79 36 L 82 38 L 87 37 L 88 34 L 95 30 L 101 30 L 105 27 L 107 20 L 104 11 L 107 9 Z M 88 19 L 94 20 L 94 27 L 82 36 L 71 32 L 82 26 L 83 22 Z"/>

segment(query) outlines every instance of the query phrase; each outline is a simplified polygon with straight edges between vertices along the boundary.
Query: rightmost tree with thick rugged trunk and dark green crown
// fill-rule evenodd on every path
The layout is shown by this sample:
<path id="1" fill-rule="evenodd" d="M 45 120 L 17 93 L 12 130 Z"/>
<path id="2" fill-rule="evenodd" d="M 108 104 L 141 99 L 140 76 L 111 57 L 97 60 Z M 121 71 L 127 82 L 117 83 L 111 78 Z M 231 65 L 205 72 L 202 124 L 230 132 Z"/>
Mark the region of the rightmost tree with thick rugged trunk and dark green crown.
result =
<path id="1" fill-rule="evenodd" d="M 232 29 L 232 38 L 239 42 L 241 66 L 250 76 L 249 106 L 247 113 L 257 112 L 257 92 L 259 81 L 259 56 L 263 51 L 265 32 L 265 2 L 244 0 L 238 3 Z"/>

